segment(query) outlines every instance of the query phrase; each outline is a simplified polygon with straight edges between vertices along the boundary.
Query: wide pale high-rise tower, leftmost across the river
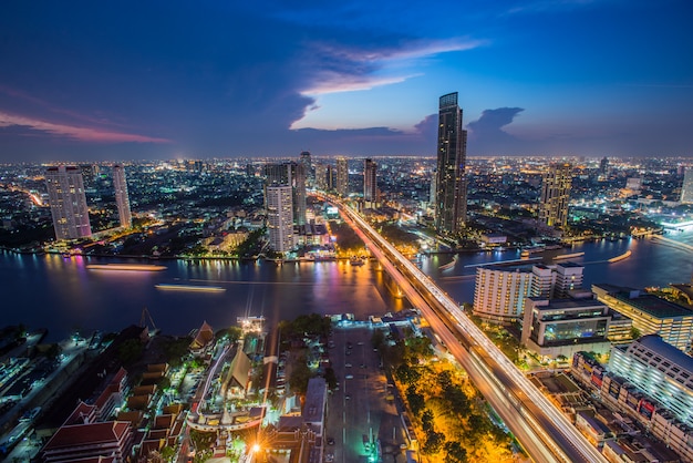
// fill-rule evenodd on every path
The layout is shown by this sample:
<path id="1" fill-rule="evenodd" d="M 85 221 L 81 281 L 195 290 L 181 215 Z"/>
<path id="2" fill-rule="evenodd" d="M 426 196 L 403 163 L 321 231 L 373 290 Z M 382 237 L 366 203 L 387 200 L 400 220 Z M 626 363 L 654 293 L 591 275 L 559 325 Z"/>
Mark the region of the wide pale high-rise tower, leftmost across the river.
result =
<path id="1" fill-rule="evenodd" d="M 45 171 L 51 215 L 56 239 L 92 236 L 84 181 L 79 167 L 61 165 Z"/>

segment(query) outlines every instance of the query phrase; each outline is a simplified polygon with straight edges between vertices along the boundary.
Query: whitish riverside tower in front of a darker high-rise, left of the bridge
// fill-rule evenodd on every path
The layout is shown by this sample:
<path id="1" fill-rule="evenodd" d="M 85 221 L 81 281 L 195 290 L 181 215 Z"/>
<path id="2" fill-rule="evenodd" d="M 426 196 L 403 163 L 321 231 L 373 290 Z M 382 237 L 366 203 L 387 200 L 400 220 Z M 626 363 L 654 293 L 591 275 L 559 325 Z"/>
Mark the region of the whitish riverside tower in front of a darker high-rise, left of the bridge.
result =
<path id="1" fill-rule="evenodd" d="M 268 186 L 267 191 L 267 228 L 269 246 L 277 253 L 286 253 L 293 248 L 293 204 L 291 187 Z"/>

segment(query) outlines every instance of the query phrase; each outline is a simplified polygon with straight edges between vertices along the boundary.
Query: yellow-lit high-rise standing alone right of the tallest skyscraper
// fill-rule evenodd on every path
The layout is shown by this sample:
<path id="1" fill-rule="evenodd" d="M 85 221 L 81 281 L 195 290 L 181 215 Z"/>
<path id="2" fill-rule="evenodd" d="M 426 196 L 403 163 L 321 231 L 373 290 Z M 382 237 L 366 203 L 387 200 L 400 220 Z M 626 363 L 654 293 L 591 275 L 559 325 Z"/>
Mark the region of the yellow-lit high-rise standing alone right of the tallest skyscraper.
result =
<path id="1" fill-rule="evenodd" d="M 565 227 L 568 223 L 568 200 L 572 186 L 572 165 L 551 164 L 544 174 L 539 199 L 539 220 L 549 227 Z"/>

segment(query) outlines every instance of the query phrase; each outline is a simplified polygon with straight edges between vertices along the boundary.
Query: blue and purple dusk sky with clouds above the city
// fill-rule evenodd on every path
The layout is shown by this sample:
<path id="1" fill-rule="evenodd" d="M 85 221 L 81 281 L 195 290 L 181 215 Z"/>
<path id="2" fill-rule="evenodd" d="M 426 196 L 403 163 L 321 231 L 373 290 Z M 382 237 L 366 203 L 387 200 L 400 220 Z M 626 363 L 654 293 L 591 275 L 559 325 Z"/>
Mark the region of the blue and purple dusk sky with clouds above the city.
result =
<path id="1" fill-rule="evenodd" d="M 0 162 L 693 156 L 690 0 L 0 2 Z"/>

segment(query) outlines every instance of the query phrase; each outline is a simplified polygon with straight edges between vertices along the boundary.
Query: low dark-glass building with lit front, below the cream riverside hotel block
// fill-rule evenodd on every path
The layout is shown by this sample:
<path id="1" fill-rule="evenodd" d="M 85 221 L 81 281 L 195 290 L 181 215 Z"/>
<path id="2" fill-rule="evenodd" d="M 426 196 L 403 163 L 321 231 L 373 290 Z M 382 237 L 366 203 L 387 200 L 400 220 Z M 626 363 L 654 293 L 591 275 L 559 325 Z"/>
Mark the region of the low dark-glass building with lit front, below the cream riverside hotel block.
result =
<path id="1" fill-rule="evenodd" d="M 581 350 L 607 353 L 609 308 L 592 298 L 525 299 L 521 342 L 539 356 L 572 358 Z"/>

